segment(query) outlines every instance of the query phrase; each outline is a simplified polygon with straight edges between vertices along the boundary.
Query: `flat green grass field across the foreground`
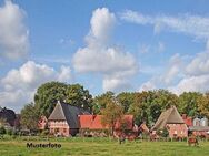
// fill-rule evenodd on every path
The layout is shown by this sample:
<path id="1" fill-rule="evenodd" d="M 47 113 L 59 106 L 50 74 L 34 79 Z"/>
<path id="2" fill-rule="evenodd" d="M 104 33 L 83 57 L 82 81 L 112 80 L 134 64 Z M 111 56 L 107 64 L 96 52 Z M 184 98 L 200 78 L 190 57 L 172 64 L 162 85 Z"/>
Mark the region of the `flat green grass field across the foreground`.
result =
<path id="1" fill-rule="evenodd" d="M 186 142 L 126 142 L 107 138 L 52 139 L 61 148 L 27 148 L 27 143 L 48 141 L 0 139 L 0 156 L 209 156 L 209 142 L 189 147 Z"/>

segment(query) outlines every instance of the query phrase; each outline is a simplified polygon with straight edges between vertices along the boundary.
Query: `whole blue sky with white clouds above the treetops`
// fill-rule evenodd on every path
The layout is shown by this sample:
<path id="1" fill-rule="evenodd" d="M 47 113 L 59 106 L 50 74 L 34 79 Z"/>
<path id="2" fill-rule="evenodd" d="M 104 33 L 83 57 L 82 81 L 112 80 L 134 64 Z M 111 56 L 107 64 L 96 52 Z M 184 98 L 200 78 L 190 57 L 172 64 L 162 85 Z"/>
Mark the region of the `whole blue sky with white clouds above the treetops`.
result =
<path id="1" fill-rule="evenodd" d="M 0 106 L 46 82 L 106 91 L 209 90 L 208 0 L 0 0 Z"/>

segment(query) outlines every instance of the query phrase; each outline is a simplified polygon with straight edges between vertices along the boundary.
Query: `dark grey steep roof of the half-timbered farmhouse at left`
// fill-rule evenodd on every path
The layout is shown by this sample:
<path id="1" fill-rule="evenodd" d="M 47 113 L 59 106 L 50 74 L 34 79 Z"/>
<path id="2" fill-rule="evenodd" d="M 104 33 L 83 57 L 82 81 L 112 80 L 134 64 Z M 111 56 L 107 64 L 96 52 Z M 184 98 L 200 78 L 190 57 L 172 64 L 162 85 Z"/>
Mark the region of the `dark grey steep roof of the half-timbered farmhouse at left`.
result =
<path id="1" fill-rule="evenodd" d="M 49 121 L 67 121 L 70 128 L 79 128 L 78 115 L 90 114 L 88 111 L 72 106 L 70 104 L 58 102 L 53 112 L 49 116 Z"/>

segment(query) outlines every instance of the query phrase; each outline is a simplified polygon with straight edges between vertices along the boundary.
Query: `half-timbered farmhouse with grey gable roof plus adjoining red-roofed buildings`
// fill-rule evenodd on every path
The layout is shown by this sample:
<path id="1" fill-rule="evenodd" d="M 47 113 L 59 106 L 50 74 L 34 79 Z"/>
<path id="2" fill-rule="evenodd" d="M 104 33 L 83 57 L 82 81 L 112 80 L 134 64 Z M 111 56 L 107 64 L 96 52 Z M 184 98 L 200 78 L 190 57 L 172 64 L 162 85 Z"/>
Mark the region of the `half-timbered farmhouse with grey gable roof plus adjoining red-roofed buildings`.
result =
<path id="1" fill-rule="evenodd" d="M 51 134 L 74 136 L 79 131 L 83 129 L 94 132 L 108 129 L 108 126 L 101 124 L 101 118 L 102 115 L 92 115 L 83 108 L 58 102 L 49 118 L 41 116 L 38 125 L 39 129 L 44 129 L 46 125 L 48 125 Z M 116 123 L 115 135 L 118 135 L 122 128 L 132 131 L 133 115 L 125 115 L 122 121 L 125 125 L 119 122 Z"/>

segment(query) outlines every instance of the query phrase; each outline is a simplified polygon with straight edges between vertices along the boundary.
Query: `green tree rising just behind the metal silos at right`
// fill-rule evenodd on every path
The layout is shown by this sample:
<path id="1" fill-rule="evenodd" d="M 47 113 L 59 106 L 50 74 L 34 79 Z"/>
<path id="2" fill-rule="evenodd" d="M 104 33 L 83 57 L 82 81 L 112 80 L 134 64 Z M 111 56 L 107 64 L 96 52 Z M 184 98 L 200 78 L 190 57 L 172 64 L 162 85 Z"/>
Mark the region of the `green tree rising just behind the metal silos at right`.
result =
<path id="1" fill-rule="evenodd" d="M 179 96 L 179 112 L 188 116 L 198 115 L 198 98 L 201 96 L 202 94 L 198 92 L 183 92 Z"/>

